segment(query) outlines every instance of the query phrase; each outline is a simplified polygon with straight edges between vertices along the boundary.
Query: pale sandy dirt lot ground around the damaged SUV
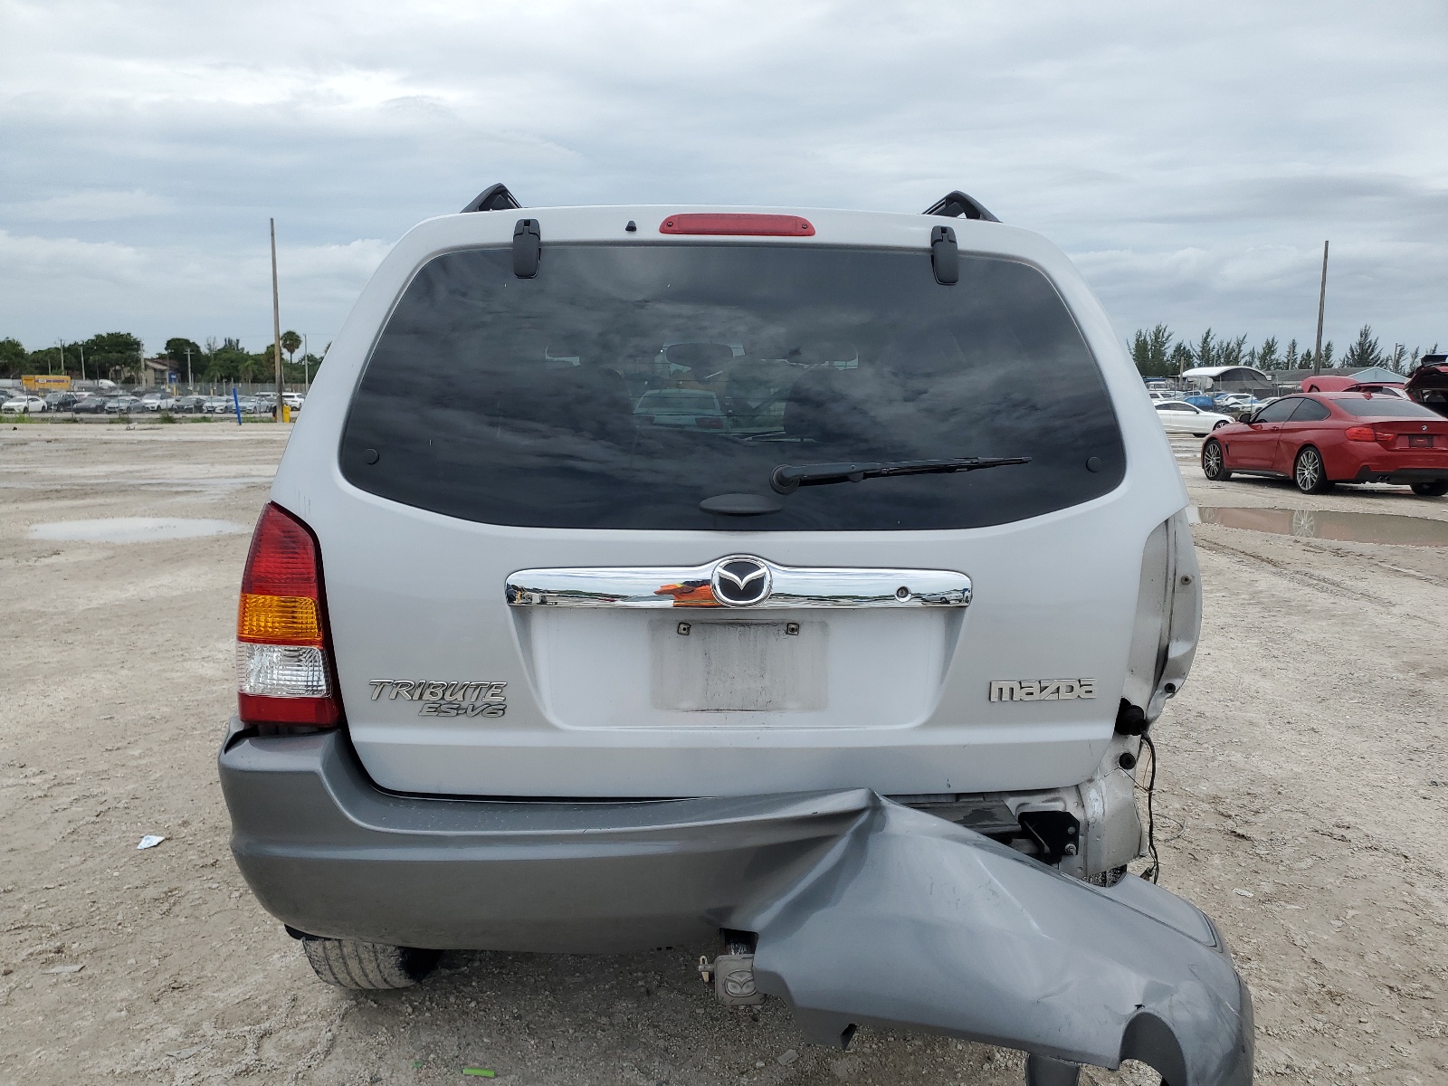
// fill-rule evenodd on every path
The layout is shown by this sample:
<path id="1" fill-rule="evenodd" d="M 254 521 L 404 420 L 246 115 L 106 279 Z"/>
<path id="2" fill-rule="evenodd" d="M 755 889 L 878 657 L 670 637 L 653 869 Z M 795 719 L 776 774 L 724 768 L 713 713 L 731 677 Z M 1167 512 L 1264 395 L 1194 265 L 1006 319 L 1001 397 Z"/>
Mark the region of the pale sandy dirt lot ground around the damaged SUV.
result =
<path id="1" fill-rule="evenodd" d="M 0 1082 L 1021 1082 L 1014 1053 L 927 1035 L 811 1048 L 779 1003 L 717 1006 L 694 951 L 447 954 L 423 988 L 363 998 L 317 983 L 232 864 L 214 769 L 285 430 L 0 430 Z M 1203 505 L 1448 520 L 1403 489 L 1211 485 L 1192 456 Z M 30 536 L 93 517 L 245 530 Z M 1196 531 L 1202 650 L 1154 733 L 1163 882 L 1231 941 L 1263 1082 L 1448 1082 L 1448 550 Z"/>

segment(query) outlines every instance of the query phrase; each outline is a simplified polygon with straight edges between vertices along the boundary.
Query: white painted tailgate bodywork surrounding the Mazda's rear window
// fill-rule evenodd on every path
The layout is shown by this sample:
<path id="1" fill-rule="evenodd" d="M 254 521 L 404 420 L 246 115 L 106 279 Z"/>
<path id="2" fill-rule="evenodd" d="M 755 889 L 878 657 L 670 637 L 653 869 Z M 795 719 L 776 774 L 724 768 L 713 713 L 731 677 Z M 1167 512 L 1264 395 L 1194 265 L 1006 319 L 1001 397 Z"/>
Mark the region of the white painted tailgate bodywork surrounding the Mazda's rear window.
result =
<path id="1" fill-rule="evenodd" d="M 657 223 L 679 210 L 526 209 L 424 222 L 382 262 L 333 342 L 272 500 L 306 520 L 321 543 L 340 692 L 368 773 L 405 792 L 620 798 L 856 786 L 886 795 L 980 792 L 1089 778 L 1112 737 L 1145 539 L 1183 508 L 1186 491 L 1105 311 L 1070 261 L 1032 233 L 950 223 L 961 252 L 1040 268 L 1100 365 L 1122 427 L 1127 473 L 1115 491 L 1083 505 L 950 531 L 559 530 L 455 520 L 378 498 L 342 478 L 337 449 L 352 391 L 392 304 L 430 258 L 508 243 L 521 216 L 540 222 L 544 246 L 720 242 L 659 236 Z M 792 245 L 924 252 L 931 226 L 941 223 L 769 210 L 814 223 L 815 236 Z M 637 233 L 624 233 L 630 219 Z M 795 566 L 959 571 L 973 581 L 975 597 L 969 608 L 948 614 L 801 613 L 805 621 L 830 624 L 825 708 L 811 694 L 789 695 L 805 698 L 794 708 L 749 712 L 662 704 L 649 679 L 649 613 L 529 615 L 504 602 L 504 581 L 518 569 L 686 566 L 731 553 Z M 770 613 L 772 620 L 786 617 L 794 615 Z M 988 699 L 990 679 L 1067 678 L 1095 679 L 1096 698 Z M 416 702 L 372 701 L 372 679 L 507 682 L 507 715 L 421 718 Z"/>

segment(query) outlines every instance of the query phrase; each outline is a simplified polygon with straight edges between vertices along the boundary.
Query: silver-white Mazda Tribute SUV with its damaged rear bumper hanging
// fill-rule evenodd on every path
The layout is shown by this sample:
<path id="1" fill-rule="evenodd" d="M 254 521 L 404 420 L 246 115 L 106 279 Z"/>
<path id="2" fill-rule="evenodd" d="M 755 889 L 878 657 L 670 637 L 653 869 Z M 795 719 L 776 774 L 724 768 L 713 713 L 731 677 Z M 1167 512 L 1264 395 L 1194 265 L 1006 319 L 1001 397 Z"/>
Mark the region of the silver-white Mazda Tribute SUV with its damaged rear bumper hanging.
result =
<path id="1" fill-rule="evenodd" d="M 1125 873 L 1200 585 L 1141 379 L 1050 243 L 960 193 L 495 185 L 397 245 L 308 404 L 220 772 L 324 980 L 717 938 L 721 1001 L 822 1043 L 1251 1080 L 1215 927 Z"/>

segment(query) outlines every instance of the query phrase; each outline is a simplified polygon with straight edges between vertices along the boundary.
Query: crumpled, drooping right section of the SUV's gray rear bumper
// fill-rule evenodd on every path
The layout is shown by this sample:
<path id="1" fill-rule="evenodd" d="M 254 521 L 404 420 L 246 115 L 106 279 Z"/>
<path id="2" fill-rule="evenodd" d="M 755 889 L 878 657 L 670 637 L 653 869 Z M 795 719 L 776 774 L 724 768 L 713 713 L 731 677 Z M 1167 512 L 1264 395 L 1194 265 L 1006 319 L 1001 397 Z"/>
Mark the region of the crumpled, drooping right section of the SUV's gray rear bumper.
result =
<path id="1" fill-rule="evenodd" d="M 1135 876 L 1095 886 L 869 794 L 783 895 L 724 918 L 724 1002 L 789 1002 L 809 1040 L 901 1025 L 1027 1051 L 1027 1082 L 1140 1060 L 1169 1086 L 1247 1086 L 1253 1009 L 1212 922 Z M 757 933 L 753 957 L 747 935 Z"/>

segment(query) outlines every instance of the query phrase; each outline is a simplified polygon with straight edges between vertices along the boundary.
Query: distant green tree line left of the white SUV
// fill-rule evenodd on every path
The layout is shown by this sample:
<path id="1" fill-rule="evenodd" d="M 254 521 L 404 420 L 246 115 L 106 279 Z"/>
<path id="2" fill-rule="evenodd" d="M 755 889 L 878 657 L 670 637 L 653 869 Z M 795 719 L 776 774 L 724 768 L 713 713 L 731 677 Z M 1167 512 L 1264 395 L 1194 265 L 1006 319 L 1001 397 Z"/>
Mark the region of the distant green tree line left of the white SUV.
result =
<path id="1" fill-rule="evenodd" d="M 284 332 L 282 381 L 301 384 L 317 372 L 321 359 L 301 355 L 301 336 Z M 204 345 L 181 336 L 167 340 L 167 349 L 151 361 L 165 359 L 187 379 L 190 352 L 191 378 L 195 384 L 266 382 L 272 379 L 275 362 L 271 345 L 261 350 L 246 350 L 237 339 L 209 339 Z M 25 374 L 70 374 L 90 381 L 106 378 L 117 384 L 140 381 L 143 368 L 140 339 L 129 332 L 104 332 L 75 343 L 26 350 L 17 339 L 0 339 L 0 376 L 17 378 Z"/>

